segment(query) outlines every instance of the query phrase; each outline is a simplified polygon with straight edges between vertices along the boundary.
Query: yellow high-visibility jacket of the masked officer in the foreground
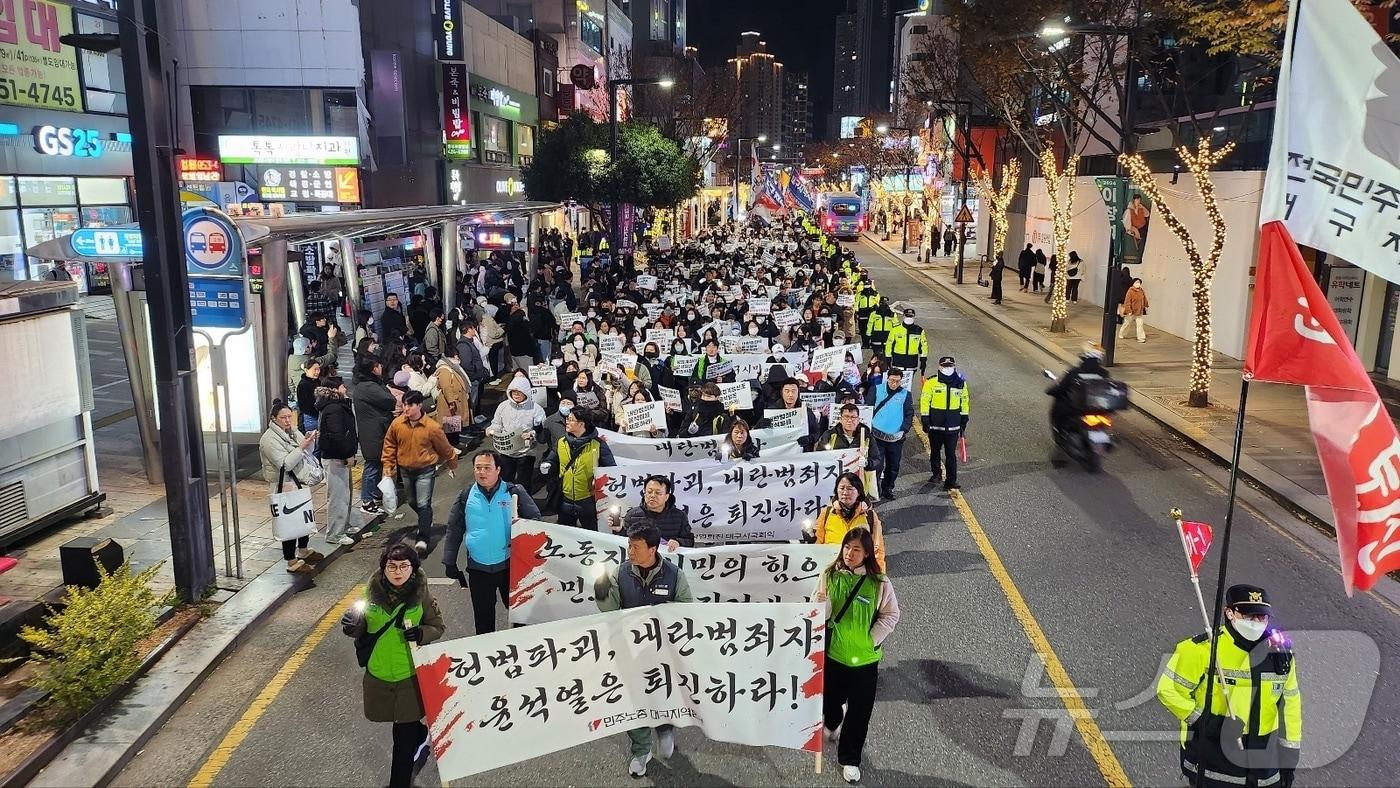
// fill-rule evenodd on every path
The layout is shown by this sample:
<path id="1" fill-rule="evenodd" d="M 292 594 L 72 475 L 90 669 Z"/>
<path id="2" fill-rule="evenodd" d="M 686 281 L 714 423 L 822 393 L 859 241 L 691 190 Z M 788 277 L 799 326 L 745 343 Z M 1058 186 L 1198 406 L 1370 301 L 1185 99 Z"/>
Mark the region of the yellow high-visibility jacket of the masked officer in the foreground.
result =
<path id="1" fill-rule="evenodd" d="M 1221 672 L 1214 679 L 1215 689 L 1211 690 L 1211 714 L 1225 717 L 1229 710 L 1233 710 L 1236 717 L 1247 722 L 1257 684 L 1264 693 L 1259 704 L 1259 719 L 1246 733 L 1271 736 L 1278 733 L 1280 725 L 1282 725 L 1278 745 L 1296 750 L 1302 747 L 1303 739 L 1303 705 L 1302 696 L 1298 693 L 1298 665 L 1292 658 L 1292 651 L 1287 649 L 1287 645 L 1275 644 L 1275 640 L 1287 644 L 1282 633 L 1266 637 L 1254 647 L 1254 651 L 1271 647 L 1274 651 L 1260 661 L 1257 669 L 1252 669 L 1250 652 L 1236 645 L 1229 627 L 1221 627 L 1219 635 L 1215 638 L 1217 663 Z M 1200 634 L 1176 644 L 1172 659 L 1156 680 L 1158 700 L 1182 721 L 1180 740 L 1183 745 L 1189 726 L 1204 711 L 1205 670 L 1208 668 L 1210 638 Z M 1221 686 L 1219 676 L 1225 677 L 1225 687 Z M 1226 694 L 1229 696 L 1228 705 Z M 1280 714 L 1280 707 L 1282 707 L 1282 714 Z"/>

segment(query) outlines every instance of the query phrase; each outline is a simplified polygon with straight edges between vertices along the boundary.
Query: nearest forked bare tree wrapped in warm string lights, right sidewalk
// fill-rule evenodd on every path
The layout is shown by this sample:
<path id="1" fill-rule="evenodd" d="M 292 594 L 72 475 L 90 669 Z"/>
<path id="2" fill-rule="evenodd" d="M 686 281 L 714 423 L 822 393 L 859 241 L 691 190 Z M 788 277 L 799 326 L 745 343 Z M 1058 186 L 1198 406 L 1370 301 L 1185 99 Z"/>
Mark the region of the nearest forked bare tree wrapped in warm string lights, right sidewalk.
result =
<path id="1" fill-rule="evenodd" d="M 1210 137 L 1201 137 L 1196 153 L 1191 153 L 1186 146 L 1176 148 L 1176 155 L 1196 179 L 1196 190 L 1205 207 L 1205 217 L 1211 223 L 1211 246 L 1205 253 L 1201 253 L 1201 248 L 1191 238 L 1190 231 L 1162 199 L 1162 188 L 1152 178 L 1152 171 L 1148 169 L 1142 157 L 1138 154 L 1119 157 L 1128 168 L 1133 182 L 1138 185 L 1138 189 L 1147 192 L 1152 204 L 1156 206 L 1158 216 L 1182 242 L 1186 258 L 1191 263 L 1191 301 L 1196 305 L 1196 322 L 1191 333 L 1191 388 L 1187 396 L 1187 404 L 1191 407 L 1205 407 L 1211 402 L 1211 363 L 1214 361 L 1211 350 L 1211 283 L 1215 281 L 1215 267 L 1225 249 L 1225 220 L 1221 218 L 1219 199 L 1215 196 L 1211 171 L 1232 150 L 1235 150 L 1235 143 L 1214 148 Z"/>

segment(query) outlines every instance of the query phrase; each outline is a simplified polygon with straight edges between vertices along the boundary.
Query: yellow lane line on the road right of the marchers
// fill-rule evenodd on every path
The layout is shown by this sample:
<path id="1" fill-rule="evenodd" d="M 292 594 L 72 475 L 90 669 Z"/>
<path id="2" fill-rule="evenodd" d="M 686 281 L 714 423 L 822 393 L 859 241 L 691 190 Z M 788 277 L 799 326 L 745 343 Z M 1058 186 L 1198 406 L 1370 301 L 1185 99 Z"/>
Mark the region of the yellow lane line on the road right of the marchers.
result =
<path id="1" fill-rule="evenodd" d="M 932 446 L 928 442 L 928 434 L 924 432 L 923 427 L 916 427 L 914 432 L 918 439 L 924 444 L 924 449 L 932 452 Z M 1133 782 L 1128 780 L 1126 771 L 1123 771 L 1123 764 L 1119 763 L 1119 757 L 1113 753 L 1113 746 L 1109 745 L 1107 739 L 1103 736 L 1103 731 L 1099 729 L 1099 724 L 1093 721 L 1093 712 L 1084 705 L 1084 697 L 1079 694 L 1078 687 L 1074 686 L 1074 680 L 1070 679 L 1068 670 L 1064 669 L 1064 663 L 1060 662 L 1060 656 L 1056 655 L 1054 648 L 1050 645 L 1050 638 L 1046 637 L 1044 630 L 1040 628 L 1040 623 L 1036 621 L 1035 614 L 1030 612 L 1030 606 L 1026 605 L 1025 596 L 1021 595 L 1021 589 L 1016 588 L 1016 581 L 1011 578 L 1011 572 L 1007 571 L 1007 565 L 1001 563 L 1001 556 L 997 554 L 997 549 L 993 547 L 991 539 L 987 532 L 983 530 L 981 523 L 977 522 L 977 515 L 972 512 L 972 507 L 967 505 L 967 500 L 962 497 L 962 491 L 949 490 L 948 497 L 952 498 L 953 507 L 963 519 L 963 525 L 967 526 L 967 532 L 972 535 L 973 542 L 977 543 L 977 550 L 981 551 L 981 557 L 987 561 L 987 568 L 991 570 L 991 575 L 997 578 L 997 585 L 1001 586 L 1001 593 L 1007 598 L 1007 603 L 1011 606 L 1011 613 L 1021 623 L 1022 631 L 1026 633 L 1026 638 L 1030 641 L 1030 647 L 1035 648 L 1040 661 L 1046 666 L 1046 677 L 1054 684 L 1056 694 L 1060 696 L 1060 701 L 1064 704 L 1065 711 L 1074 719 L 1074 726 L 1079 731 L 1079 738 L 1084 740 L 1084 747 L 1089 750 L 1089 756 L 1093 757 L 1093 763 L 1099 767 L 1099 774 L 1103 775 L 1105 782 L 1113 787 L 1131 787 Z"/>

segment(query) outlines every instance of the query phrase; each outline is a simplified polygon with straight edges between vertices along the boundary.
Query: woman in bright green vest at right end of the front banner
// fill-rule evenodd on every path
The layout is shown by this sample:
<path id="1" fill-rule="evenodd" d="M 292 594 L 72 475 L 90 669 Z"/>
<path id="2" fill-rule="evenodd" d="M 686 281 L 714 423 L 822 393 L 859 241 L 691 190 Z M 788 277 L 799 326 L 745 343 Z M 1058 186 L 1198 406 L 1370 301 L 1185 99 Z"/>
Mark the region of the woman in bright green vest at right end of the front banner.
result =
<path id="1" fill-rule="evenodd" d="M 822 572 L 813 599 L 826 602 L 826 691 L 822 698 L 826 739 L 837 742 L 841 778 L 860 782 L 861 752 L 875 711 L 883 656 L 881 644 L 899 623 L 895 586 L 875 564 L 875 539 L 869 529 L 846 532 L 841 553 Z"/>

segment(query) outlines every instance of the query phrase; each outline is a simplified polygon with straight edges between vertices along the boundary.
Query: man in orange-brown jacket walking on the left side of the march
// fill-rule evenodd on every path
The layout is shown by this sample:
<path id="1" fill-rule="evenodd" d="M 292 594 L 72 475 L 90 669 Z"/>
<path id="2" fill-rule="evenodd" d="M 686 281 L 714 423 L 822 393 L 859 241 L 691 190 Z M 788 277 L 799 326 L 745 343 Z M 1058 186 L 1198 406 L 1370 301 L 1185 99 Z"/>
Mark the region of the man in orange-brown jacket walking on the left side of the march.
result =
<path id="1" fill-rule="evenodd" d="M 379 453 L 386 479 L 393 479 L 396 470 L 403 472 L 407 502 L 419 515 L 413 547 L 421 556 L 427 554 L 433 537 L 433 486 L 438 465 L 447 465 L 448 476 L 456 476 L 456 451 L 442 427 L 423 413 L 426 400 L 421 392 L 403 395 L 403 414 L 389 424 Z"/>

